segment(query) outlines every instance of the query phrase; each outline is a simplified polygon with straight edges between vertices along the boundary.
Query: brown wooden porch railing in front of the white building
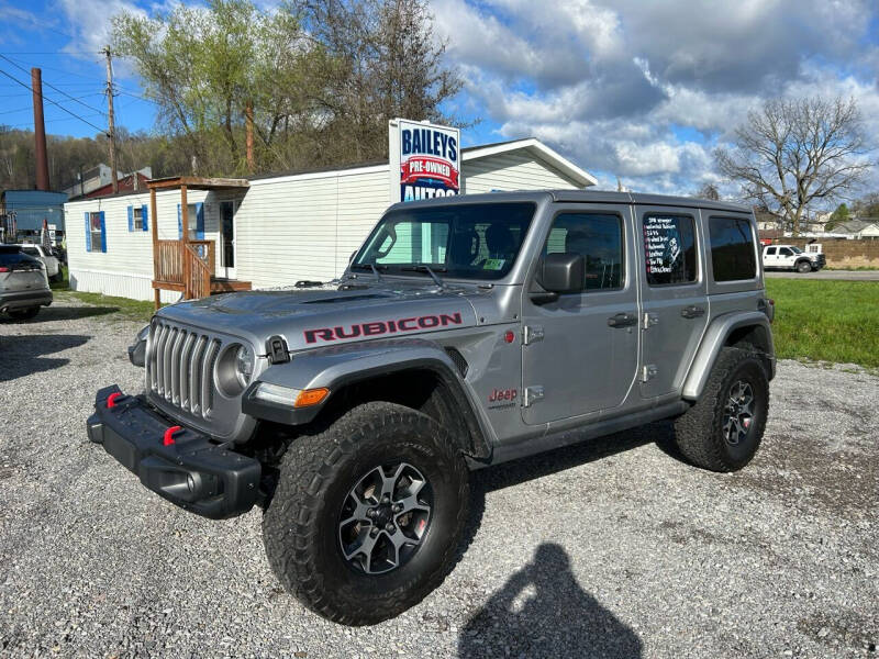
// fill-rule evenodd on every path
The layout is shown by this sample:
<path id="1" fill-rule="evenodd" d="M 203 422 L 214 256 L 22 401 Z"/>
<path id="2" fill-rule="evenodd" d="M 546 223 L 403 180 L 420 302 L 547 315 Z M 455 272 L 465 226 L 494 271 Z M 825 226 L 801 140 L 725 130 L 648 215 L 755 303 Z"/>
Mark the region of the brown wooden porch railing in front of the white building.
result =
<path id="1" fill-rule="evenodd" d="M 211 293 L 214 272 L 213 241 L 157 241 L 155 253 L 157 284 L 181 290 L 185 300 L 205 298 Z"/>

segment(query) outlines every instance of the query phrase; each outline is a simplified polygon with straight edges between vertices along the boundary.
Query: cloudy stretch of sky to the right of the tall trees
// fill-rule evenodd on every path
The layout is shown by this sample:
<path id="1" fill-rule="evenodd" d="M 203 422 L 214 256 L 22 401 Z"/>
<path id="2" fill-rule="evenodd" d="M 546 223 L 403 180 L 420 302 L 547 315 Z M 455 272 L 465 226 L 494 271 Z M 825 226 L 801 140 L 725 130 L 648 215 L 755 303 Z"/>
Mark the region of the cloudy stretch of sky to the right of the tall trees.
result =
<path id="1" fill-rule="evenodd" d="M 725 185 L 712 150 L 767 98 L 858 101 L 879 144 L 870 0 L 434 0 L 469 103 L 615 188 Z M 879 175 L 877 176 L 879 178 Z M 610 183 L 610 185 L 609 185 Z M 879 180 L 877 180 L 879 185 Z"/>

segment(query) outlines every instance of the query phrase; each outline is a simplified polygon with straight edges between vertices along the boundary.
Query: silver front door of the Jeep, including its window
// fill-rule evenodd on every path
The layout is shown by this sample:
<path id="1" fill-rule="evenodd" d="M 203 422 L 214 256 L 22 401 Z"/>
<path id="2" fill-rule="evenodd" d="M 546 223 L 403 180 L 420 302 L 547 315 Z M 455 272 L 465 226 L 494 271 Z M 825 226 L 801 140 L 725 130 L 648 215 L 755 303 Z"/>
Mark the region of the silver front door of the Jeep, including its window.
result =
<path id="1" fill-rule="evenodd" d="M 523 316 L 522 417 L 537 425 L 615 407 L 635 380 L 637 282 L 630 206 L 561 206 L 543 256 L 577 253 L 586 261 L 582 290 L 538 303 L 526 288 Z"/>

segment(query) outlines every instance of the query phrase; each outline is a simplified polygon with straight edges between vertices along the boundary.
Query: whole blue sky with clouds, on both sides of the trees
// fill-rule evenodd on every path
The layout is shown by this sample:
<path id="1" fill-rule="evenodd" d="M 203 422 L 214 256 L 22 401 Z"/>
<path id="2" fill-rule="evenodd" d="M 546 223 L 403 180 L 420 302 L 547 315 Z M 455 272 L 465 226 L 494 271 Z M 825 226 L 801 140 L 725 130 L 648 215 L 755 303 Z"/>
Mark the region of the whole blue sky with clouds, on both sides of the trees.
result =
<path id="1" fill-rule="evenodd" d="M 714 182 L 735 194 L 711 152 L 767 98 L 855 98 L 879 144 L 875 0 L 431 2 L 448 63 L 465 80 L 447 110 L 480 120 L 465 132 L 467 145 L 534 135 L 602 187 L 614 188 L 619 176 L 633 190 L 686 193 Z M 99 51 L 109 18 L 156 7 L 0 0 L 0 54 L 11 59 L 0 59 L 0 70 L 27 81 L 16 65 L 42 67 L 57 88 L 44 88 L 48 99 L 103 126 Z M 124 65 L 116 75 L 118 123 L 151 130 L 154 109 L 137 98 L 136 78 Z M 27 90 L 0 76 L 0 123 L 31 126 Z M 94 133 L 51 103 L 46 120 L 49 133 Z M 879 188 L 879 176 L 871 187 Z"/>

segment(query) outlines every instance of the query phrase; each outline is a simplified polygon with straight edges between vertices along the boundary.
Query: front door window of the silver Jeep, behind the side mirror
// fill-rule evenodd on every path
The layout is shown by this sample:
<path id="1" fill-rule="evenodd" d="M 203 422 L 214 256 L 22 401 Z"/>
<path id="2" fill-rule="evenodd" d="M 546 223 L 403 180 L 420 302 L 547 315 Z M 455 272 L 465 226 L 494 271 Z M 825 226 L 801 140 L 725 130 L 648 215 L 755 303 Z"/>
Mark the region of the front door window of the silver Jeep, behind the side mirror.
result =
<path id="1" fill-rule="evenodd" d="M 561 213 L 553 221 L 543 253 L 582 255 L 586 291 L 623 288 L 623 223 L 619 215 Z"/>

